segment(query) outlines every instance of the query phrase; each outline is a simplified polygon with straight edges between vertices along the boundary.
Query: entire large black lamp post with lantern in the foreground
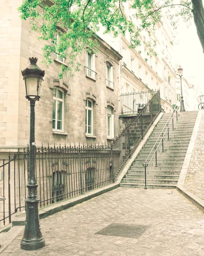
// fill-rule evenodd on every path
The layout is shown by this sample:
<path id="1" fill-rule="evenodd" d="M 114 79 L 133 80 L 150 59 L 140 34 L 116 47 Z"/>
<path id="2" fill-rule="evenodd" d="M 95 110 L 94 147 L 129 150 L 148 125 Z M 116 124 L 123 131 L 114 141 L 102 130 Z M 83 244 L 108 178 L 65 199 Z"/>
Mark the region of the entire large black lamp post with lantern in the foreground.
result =
<path id="1" fill-rule="evenodd" d="M 34 140 L 34 106 L 40 99 L 40 89 L 45 71 L 37 66 L 37 58 L 29 58 L 30 65 L 22 72 L 26 85 L 26 99 L 30 102 L 30 152 L 28 157 L 28 197 L 26 198 L 26 226 L 20 248 L 23 250 L 37 250 L 45 246 L 45 240 L 40 230 L 37 181 L 35 177 L 35 140 Z"/>

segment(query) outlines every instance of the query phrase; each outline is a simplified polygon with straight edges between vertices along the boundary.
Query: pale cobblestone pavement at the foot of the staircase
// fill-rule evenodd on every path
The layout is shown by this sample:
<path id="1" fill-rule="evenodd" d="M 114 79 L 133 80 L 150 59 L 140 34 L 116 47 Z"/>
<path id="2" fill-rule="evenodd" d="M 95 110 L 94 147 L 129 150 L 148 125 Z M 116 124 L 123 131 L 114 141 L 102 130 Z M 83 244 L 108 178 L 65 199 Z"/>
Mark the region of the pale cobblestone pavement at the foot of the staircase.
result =
<path id="1" fill-rule="evenodd" d="M 112 223 L 149 225 L 138 238 L 95 233 Z M 204 214 L 176 190 L 118 188 L 40 220 L 46 247 L 1 256 L 204 256 Z"/>

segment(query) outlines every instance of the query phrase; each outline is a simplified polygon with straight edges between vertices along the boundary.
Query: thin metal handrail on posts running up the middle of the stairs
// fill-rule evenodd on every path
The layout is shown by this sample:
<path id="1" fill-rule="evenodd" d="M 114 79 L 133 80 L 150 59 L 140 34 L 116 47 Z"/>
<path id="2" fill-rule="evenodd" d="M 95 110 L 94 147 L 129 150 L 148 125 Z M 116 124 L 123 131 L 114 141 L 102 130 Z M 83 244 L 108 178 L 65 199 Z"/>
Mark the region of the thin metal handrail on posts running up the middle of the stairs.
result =
<path id="1" fill-rule="evenodd" d="M 181 101 L 178 101 L 178 103 L 179 103 L 179 102 L 181 102 Z M 169 126 L 170 126 L 170 123 L 171 123 L 171 121 L 172 121 L 172 130 L 174 130 L 173 118 L 174 118 L 175 113 L 176 113 L 176 121 L 178 121 L 178 115 L 177 115 L 178 108 L 179 108 L 179 107 L 178 107 L 177 104 L 176 104 L 175 107 L 174 107 L 173 110 L 172 110 L 171 115 L 170 115 L 170 117 L 172 117 L 171 120 L 170 120 L 170 117 L 169 117 L 169 119 L 167 120 L 166 124 L 164 125 L 164 128 L 162 129 L 161 133 L 159 134 L 158 139 L 157 139 L 157 141 L 155 142 L 155 145 L 152 147 L 152 150 L 150 151 L 150 153 L 149 153 L 149 155 L 148 155 L 146 161 L 145 161 L 144 164 L 143 164 L 143 166 L 144 166 L 144 175 L 145 175 L 145 186 L 144 186 L 144 189 L 147 189 L 146 168 L 147 168 L 147 166 L 149 165 L 149 163 L 152 161 L 152 158 L 154 157 L 154 155 L 155 155 L 155 157 L 156 157 L 156 164 L 155 164 L 155 167 L 158 167 L 158 166 L 157 166 L 157 149 L 158 149 L 159 145 L 160 145 L 161 142 L 162 142 L 162 152 L 164 152 L 164 135 L 166 134 L 166 132 L 167 132 L 167 130 L 168 130 L 168 140 L 169 140 Z M 169 120 L 170 120 L 170 121 L 169 121 Z M 167 126 L 166 131 L 164 131 L 164 129 L 165 129 L 166 126 Z M 164 132 L 163 132 L 163 131 L 164 131 Z M 158 140 L 159 140 L 160 137 L 161 137 L 161 140 L 160 140 L 160 142 L 158 143 Z M 157 143 L 158 143 L 158 146 L 157 146 Z M 148 160 L 149 156 L 151 155 L 153 149 L 155 149 L 155 152 L 154 152 L 154 154 L 152 155 L 152 158 L 149 160 L 149 163 L 147 163 L 147 160 Z"/>

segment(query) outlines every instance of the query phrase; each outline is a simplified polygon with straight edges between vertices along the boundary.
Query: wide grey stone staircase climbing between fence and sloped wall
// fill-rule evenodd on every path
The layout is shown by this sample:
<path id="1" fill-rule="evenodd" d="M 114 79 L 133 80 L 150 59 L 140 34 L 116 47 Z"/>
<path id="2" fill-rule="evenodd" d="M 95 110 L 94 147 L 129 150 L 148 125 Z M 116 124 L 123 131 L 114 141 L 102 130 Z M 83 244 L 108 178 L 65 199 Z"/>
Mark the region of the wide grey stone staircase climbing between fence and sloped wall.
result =
<path id="1" fill-rule="evenodd" d="M 172 131 L 172 124 L 169 129 L 170 140 L 167 140 L 166 133 L 164 137 L 164 152 L 162 152 L 161 144 L 157 150 L 158 167 L 155 167 L 155 156 L 147 166 L 147 188 L 174 189 L 176 187 L 197 114 L 198 111 L 178 112 L 178 122 L 176 121 L 176 115 L 174 116 L 174 131 Z M 164 113 L 152 131 L 152 134 L 141 148 L 141 151 L 135 158 L 132 166 L 127 171 L 120 186 L 144 188 L 143 163 L 152 150 L 152 147 L 158 139 L 169 116 L 170 113 Z M 152 151 L 151 156 L 153 153 L 154 150 Z M 149 157 L 149 160 L 150 159 L 151 157 Z"/>

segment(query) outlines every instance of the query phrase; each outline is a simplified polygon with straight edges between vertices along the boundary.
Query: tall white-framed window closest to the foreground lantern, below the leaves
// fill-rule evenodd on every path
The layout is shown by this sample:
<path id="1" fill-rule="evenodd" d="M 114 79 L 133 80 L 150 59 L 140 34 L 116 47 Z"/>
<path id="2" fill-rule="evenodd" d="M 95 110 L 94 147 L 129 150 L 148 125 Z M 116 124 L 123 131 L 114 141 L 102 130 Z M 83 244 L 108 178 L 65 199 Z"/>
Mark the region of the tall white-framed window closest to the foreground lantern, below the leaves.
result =
<path id="1" fill-rule="evenodd" d="M 53 89 L 52 128 L 63 130 L 64 92 L 60 89 Z"/>

